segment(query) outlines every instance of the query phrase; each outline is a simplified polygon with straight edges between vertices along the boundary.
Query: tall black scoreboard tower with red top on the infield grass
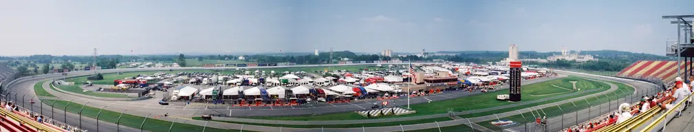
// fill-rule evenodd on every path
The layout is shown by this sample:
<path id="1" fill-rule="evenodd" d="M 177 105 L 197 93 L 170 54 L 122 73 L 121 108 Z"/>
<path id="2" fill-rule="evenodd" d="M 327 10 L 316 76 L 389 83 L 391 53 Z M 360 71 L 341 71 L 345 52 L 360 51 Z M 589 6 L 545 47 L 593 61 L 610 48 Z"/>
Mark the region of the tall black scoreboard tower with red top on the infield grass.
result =
<path id="1" fill-rule="evenodd" d="M 523 68 L 520 61 L 510 62 L 509 71 L 509 101 L 521 101 L 521 72 Z"/>

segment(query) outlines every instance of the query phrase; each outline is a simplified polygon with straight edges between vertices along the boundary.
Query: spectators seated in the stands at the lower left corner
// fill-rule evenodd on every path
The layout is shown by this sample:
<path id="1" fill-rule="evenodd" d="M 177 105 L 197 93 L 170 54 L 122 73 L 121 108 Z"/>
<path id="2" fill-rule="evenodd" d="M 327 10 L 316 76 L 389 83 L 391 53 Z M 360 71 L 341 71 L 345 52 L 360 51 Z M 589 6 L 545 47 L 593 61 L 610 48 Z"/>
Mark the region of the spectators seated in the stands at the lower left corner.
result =
<path id="1" fill-rule="evenodd" d="M 44 117 L 43 115 L 40 115 L 39 113 L 34 113 L 31 110 L 27 110 L 25 108 L 21 108 L 17 106 L 16 104 L 6 101 L 0 101 L 0 106 L 3 106 L 5 110 L 8 110 L 11 113 L 16 113 L 17 115 L 21 115 L 30 119 L 33 119 L 34 121 L 44 124 L 46 126 L 53 126 L 51 128 L 54 129 L 62 129 L 65 131 L 71 131 L 71 132 L 82 132 L 82 129 L 78 129 L 75 126 L 70 126 L 68 124 L 62 123 L 62 122 L 57 122 L 54 121 L 53 119 L 49 117 Z"/>

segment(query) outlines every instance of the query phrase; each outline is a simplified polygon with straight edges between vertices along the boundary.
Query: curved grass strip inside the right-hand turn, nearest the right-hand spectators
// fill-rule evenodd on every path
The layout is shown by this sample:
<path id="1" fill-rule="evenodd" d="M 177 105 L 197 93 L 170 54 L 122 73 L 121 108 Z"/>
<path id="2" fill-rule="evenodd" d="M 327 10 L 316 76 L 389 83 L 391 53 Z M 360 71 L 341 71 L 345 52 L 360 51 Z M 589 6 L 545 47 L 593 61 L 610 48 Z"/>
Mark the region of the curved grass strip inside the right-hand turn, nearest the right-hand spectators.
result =
<path id="1" fill-rule="evenodd" d="M 600 96 L 597 96 L 597 97 L 588 97 L 584 100 L 574 101 L 574 103 L 576 104 L 576 107 L 574 107 L 573 104 L 571 104 L 569 102 L 566 104 L 559 104 L 559 107 L 561 107 L 561 109 L 559 107 L 555 106 L 555 107 L 550 107 L 550 108 L 543 108 L 542 110 L 539 110 L 539 113 L 536 113 L 536 112 L 523 113 L 523 115 L 525 115 L 525 119 L 528 122 L 534 122 L 535 119 L 534 119 L 533 115 L 538 116 L 538 117 L 539 116 L 555 117 L 555 116 L 561 115 L 562 110 L 564 110 L 564 113 L 571 113 L 571 112 L 574 112 L 575 110 L 577 110 L 576 108 L 578 108 L 578 110 L 583 110 L 585 108 L 588 108 L 591 105 L 596 106 L 596 105 L 600 104 L 600 102 L 606 103 L 607 101 L 614 101 L 615 99 L 620 99 L 620 101 L 622 101 L 620 103 L 623 103 L 625 99 L 621 99 L 621 98 L 627 97 L 627 96 L 629 96 L 629 94 L 634 93 L 634 88 L 632 88 L 629 85 L 625 85 L 623 83 L 616 83 L 616 82 L 612 82 L 612 81 L 608 81 L 608 82 L 614 83 L 615 85 L 618 86 L 618 88 L 620 90 L 623 90 L 627 94 L 626 95 L 622 94 L 621 91 L 617 90 L 617 91 L 619 91 L 619 92 L 617 92 L 618 93 L 617 95 L 610 92 L 610 93 L 607 93 L 607 96 L 609 96 L 609 97 L 601 94 Z M 591 105 L 589 105 L 589 103 L 586 101 L 590 102 Z M 618 104 L 613 103 L 613 105 L 618 105 Z M 602 109 L 605 110 L 607 108 L 602 108 Z M 543 111 L 544 111 L 544 113 L 543 113 Z M 591 117 L 595 117 L 597 115 L 603 114 L 603 113 L 598 113 L 598 110 L 594 110 L 594 111 L 595 112 L 590 113 Z M 564 116 L 575 116 L 575 115 L 564 115 Z M 579 116 L 586 116 L 586 115 L 579 115 Z M 501 119 L 509 119 L 511 121 L 514 121 L 514 122 L 520 122 L 521 124 L 525 124 L 525 120 L 523 120 L 523 116 L 521 116 L 521 115 L 514 115 L 511 117 L 503 117 Z M 496 121 L 496 119 L 491 119 L 491 120 L 487 120 L 487 121 L 483 121 L 483 122 L 477 122 L 477 124 L 480 124 L 486 128 L 489 128 L 489 129 L 492 129 L 495 131 L 500 130 L 501 129 L 500 127 L 489 123 L 489 122 L 494 122 L 494 121 Z M 552 122 L 560 122 L 560 121 L 555 120 Z"/>

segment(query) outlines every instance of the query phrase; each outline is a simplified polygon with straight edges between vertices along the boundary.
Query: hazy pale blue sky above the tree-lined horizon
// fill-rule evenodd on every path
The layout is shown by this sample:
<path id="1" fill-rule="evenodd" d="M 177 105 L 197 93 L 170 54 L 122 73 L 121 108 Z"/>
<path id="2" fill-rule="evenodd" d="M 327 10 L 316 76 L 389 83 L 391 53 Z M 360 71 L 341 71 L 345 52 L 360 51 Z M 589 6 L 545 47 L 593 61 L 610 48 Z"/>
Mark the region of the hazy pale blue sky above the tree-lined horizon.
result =
<path id="1" fill-rule="evenodd" d="M 694 1 L 10 1 L 0 56 L 613 49 L 663 55 Z M 8 47 L 8 48 L 5 48 Z M 11 47 L 11 48 L 9 48 Z M 131 50 L 133 50 L 131 52 Z"/>

